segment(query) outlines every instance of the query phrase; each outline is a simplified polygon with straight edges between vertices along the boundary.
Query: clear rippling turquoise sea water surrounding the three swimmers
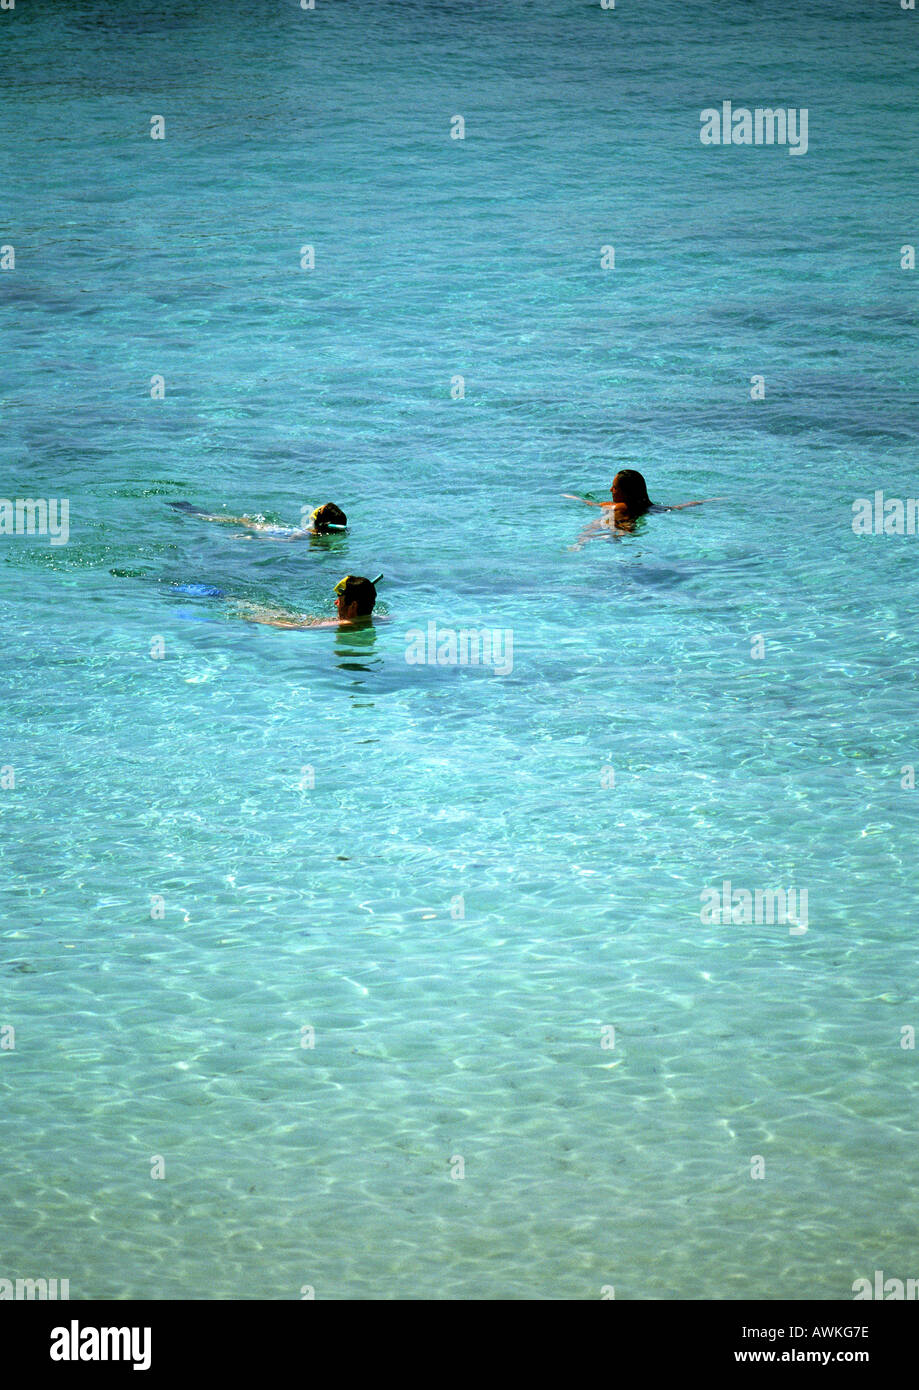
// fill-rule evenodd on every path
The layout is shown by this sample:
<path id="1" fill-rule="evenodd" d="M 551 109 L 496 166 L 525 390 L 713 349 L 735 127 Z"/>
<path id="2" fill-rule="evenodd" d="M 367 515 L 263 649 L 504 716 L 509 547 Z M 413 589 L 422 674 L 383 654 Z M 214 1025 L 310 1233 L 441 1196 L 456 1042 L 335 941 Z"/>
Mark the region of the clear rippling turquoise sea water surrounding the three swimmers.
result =
<path id="1" fill-rule="evenodd" d="M 0 1275 L 918 1276 L 919 539 L 851 516 L 916 493 L 919 17 L 0 22 L 0 491 L 71 507 L 67 545 L 0 538 Z M 723 99 L 806 107 L 806 156 L 704 147 Z M 573 549 L 562 493 L 619 467 L 724 500 Z M 239 620 L 331 614 L 346 571 L 385 573 L 371 632 Z M 428 621 L 510 630 L 513 669 L 407 663 Z M 808 931 L 704 926 L 723 878 L 806 888 Z"/>

